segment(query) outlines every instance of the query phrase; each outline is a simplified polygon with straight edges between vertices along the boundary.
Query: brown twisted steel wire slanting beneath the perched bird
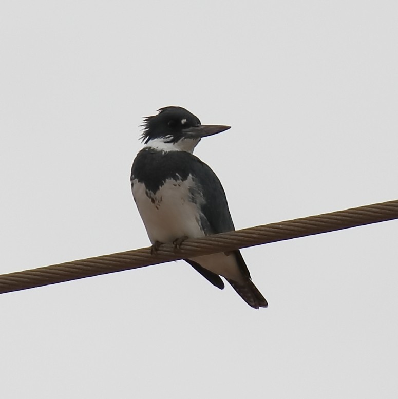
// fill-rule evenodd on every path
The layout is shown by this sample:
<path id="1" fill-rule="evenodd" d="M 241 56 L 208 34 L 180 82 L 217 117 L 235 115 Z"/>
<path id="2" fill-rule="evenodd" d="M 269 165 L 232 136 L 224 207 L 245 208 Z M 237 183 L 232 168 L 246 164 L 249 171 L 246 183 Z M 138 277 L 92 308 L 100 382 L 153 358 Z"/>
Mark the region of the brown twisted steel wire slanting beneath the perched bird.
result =
<path id="1" fill-rule="evenodd" d="M 189 239 L 180 249 L 162 244 L 156 255 L 149 247 L 3 274 L 0 294 L 393 219 L 398 219 L 398 200 Z"/>

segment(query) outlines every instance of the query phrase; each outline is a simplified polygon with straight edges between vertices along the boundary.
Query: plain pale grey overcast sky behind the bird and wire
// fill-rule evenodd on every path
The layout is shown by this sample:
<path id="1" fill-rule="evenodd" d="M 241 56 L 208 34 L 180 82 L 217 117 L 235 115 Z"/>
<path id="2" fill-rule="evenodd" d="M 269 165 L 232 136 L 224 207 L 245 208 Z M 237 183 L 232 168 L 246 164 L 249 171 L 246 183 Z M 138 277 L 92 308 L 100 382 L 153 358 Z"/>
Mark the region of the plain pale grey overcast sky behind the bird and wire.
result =
<path id="1" fill-rule="evenodd" d="M 6 1 L 0 273 L 149 245 L 142 117 L 232 129 L 195 154 L 238 229 L 398 198 L 396 1 Z M 0 295 L 21 398 L 396 398 L 398 221 L 242 250 L 254 310 L 182 261 Z"/>

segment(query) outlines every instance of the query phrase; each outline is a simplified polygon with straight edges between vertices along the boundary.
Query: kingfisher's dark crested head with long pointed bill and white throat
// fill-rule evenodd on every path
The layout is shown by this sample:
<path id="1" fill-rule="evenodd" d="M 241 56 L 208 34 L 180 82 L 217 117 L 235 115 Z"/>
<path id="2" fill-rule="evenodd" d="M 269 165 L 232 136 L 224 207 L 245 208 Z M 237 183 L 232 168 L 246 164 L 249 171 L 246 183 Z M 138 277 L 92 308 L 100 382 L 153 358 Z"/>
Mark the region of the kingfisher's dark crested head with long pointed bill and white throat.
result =
<path id="1" fill-rule="evenodd" d="M 182 107 L 164 107 L 158 114 L 144 118 L 141 136 L 145 144 L 151 141 L 192 153 L 202 137 L 212 136 L 231 126 L 202 125 L 200 120 Z"/>

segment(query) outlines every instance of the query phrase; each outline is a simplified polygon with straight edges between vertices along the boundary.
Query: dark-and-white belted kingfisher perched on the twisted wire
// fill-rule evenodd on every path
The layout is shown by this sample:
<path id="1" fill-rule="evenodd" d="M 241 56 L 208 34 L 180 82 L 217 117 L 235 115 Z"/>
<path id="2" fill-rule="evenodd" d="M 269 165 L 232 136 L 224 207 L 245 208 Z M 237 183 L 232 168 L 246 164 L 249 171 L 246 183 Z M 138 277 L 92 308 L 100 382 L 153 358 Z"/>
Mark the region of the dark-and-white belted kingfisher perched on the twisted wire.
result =
<path id="1" fill-rule="evenodd" d="M 218 177 L 193 155 L 202 137 L 230 126 L 202 125 L 184 108 L 164 107 L 146 117 L 143 127 L 145 146 L 132 164 L 131 190 L 152 251 L 156 253 L 161 243 L 178 247 L 187 238 L 235 230 Z M 268 306 L 239 250 L 185 261 L 221 290 L 223 276 L 251 307 Z"/>

